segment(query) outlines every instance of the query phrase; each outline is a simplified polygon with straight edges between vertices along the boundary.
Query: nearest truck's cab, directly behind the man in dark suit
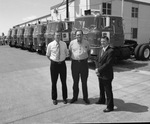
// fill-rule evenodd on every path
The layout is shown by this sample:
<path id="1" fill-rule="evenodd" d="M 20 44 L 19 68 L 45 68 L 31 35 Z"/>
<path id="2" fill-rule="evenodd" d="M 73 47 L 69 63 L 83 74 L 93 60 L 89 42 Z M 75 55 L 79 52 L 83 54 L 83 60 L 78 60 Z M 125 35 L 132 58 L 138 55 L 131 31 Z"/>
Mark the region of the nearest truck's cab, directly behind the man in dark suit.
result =
<path id="1" fill-rule="evenodd" d="M 84 39 L 90 44 L 91 60 L 101 49 L 101 37 L 106 35 L 110 39 L 110 46 L 115 50 L 116 57 L 127 59 L 131 55 L 128 45 L 124 44 L 122 17 L 107 15 L 85 15 L 75 19 L 72 29 L 72 39 L 75 31 L 81 29 Z"/>

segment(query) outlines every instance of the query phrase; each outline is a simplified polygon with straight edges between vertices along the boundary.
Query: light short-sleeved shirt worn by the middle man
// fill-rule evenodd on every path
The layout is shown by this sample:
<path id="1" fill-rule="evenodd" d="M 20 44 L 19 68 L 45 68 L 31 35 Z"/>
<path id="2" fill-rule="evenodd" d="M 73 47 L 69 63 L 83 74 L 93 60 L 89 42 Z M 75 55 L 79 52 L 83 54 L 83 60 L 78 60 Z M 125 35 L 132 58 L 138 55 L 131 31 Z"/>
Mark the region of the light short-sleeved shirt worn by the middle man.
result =
<path id="1" fill-rule="evenodd" d="M 69 50 L 71 52 L 71 58 L 73 60 L 83 60 L 88 58 L 90 45 L 86 40 L 82 40 L 82 42 L 79 43 L 77 39 L 75 39 L 70 42 Z"/>

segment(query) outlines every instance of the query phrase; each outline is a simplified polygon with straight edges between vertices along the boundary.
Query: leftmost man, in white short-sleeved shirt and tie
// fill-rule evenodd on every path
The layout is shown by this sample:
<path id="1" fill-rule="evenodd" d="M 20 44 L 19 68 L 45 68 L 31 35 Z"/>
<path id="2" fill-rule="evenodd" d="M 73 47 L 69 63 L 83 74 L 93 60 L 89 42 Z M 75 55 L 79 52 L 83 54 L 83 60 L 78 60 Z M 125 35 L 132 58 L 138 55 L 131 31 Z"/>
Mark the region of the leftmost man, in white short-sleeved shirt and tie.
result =
<path id="1" fill-rule="evenodd" d="M 57 105 L 57 80 L 60 75 L 62 83 L 62 96 L 64 104 L 67 104 L 67 68 L 65 59 L 68 56 L 67 45 L 61 41 L 61 33 L 55 32 L 55 40 L 50 42 L 47 46 L 46 56 L 50 60 L 50 74 L 52 82 L 52 100 L 53 104 Z"/>

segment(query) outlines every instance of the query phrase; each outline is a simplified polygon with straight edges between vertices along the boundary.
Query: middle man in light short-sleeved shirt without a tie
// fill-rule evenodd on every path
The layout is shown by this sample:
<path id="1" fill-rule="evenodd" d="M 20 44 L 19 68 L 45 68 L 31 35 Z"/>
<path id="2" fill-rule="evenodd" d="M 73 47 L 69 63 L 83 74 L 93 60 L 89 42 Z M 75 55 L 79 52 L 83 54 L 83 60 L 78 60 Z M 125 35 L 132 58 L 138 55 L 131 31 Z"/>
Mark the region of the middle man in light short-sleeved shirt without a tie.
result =
<path id="1" fill-rule="evenodd" d="M 86 104 L 89 104 L 88 99 L 88 88 L 87 88 L 87 78 L 88 78 L 88 63 L 87 59 L 90 53 L 90 46 L 88 41 L 83 39 L 83 31 L 77 30 L 75 32 L 76 39 L 70 42 L 69 52 L 72 60 L 71 70 L 73 78 L 73 98 L 70 103 L 74 103 L 78 99 L 79 94 L 79 79 L 81 77 L 82 82 L 82 92 L 83 100 Z"/>

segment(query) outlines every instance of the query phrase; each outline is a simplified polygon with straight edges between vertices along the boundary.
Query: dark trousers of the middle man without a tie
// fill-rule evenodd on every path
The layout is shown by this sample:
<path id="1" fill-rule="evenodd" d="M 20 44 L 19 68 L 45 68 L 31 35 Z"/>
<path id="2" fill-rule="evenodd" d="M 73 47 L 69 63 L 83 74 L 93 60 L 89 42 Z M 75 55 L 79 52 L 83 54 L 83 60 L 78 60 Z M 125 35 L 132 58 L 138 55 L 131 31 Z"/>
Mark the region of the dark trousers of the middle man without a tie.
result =
<path id="1" fill-rule="evenodd" d="M 73 98 L 78 99 L 79 94 L 79 79 L 81 77 L 83 99 L 88 99 L 87 78 L 88 78 L 88 63 L 87 59 L 77 61 L 72 60 L 71 64 L 73 78 Z"/>

